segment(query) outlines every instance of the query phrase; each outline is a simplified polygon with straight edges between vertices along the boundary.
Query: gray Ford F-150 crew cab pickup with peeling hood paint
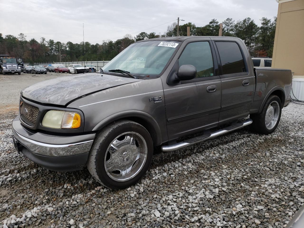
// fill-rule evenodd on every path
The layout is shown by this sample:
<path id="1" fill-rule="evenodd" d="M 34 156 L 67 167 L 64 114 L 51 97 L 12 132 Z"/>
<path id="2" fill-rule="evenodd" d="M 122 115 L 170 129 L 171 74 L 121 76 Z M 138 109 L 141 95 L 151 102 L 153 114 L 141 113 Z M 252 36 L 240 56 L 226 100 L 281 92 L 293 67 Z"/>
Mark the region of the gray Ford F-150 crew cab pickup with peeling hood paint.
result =
<path id="1" fill-rule="evenodd" d="M 103 185 L 125 188 L 146 173 L 154 147 L 178 150 L 250 124 L 272 133 L 291 85 L 290 70 L 254 68 L 238 38 L 142 40 L 100 74 L 23 89 L 13 139 L 44 168 L 87 167 Z"/>

